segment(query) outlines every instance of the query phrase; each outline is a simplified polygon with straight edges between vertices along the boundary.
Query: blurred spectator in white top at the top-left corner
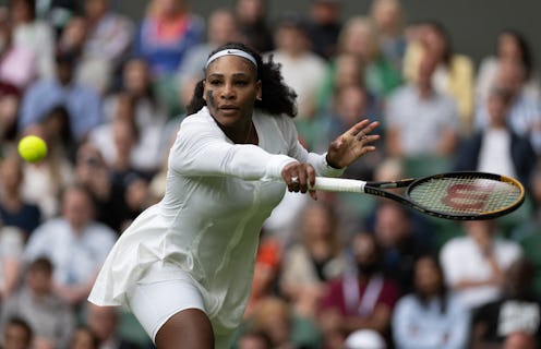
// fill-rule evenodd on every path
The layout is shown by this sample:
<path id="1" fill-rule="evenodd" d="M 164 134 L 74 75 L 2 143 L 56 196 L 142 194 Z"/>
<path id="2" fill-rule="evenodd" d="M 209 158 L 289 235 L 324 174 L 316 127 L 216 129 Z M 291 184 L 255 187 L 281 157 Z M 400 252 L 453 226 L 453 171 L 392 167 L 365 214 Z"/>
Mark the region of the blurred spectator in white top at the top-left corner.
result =
<path id="1" fill-rule="evenodd" d="M 12 0 L 8 2 L 12 35 L 15 47 L 32 53 L 34 71 L 39 79 L 53 76 L 55 32 L 49 23 L 36 16 L 35 0 Z"/>

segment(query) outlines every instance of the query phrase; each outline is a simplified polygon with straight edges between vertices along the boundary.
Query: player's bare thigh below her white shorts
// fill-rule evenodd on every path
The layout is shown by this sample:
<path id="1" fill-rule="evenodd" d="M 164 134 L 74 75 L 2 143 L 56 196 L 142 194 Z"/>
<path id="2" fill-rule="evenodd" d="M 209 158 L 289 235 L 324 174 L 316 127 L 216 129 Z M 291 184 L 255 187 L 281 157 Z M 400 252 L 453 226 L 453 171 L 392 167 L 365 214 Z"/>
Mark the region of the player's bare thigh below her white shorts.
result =
<path id="1" fill-rule="evenodd" d="M 169 317 L 156 334 L 158 349 L 214 348 L 211 321 L 199 309 L 187 309 Z"/>

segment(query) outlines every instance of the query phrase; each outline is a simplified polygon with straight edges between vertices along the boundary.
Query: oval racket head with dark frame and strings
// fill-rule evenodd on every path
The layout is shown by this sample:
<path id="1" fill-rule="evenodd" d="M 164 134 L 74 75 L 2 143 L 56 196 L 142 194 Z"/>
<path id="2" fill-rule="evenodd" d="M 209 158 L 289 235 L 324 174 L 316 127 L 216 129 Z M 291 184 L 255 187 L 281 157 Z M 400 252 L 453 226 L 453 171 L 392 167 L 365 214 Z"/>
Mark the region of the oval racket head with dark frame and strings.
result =
<path id="1" fill-rule="evenodd" d="M 405 195 L 416 208 L 432 216 L 481 220 L 517 209 L 525 201 L 525 189 L 510 177 L 462 171 L 420 178 Z"/>

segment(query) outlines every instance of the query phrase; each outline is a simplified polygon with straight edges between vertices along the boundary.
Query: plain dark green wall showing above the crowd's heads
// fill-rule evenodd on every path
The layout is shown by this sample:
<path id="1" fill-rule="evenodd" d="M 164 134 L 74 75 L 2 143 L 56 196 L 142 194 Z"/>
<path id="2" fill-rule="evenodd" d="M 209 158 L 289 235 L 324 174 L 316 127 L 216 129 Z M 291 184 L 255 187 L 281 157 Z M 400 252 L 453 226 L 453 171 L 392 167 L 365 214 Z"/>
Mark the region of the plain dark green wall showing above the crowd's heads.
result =
<path id="1" fill-rule="evenodd" d="M 0 3 L 5 1 L 0 1 Z M 270 19 L 276 19 L 287 11 L 306 12 L 311 0 L 273 0 L 268 1 L 267 12 Z M 368 13 L 371 1 L 366 0 L 339 0 L 341 17 Z M 133 19 L 141 19 L 145 0 L 116 1 L 116 7 Z M 449 31 L 456 51 L 467 52 L 478 63 L 480 59 L 494 50 L 494 37 L 507 27 L 513 27 L 521 33 L 533 45 L 537 64 L 541 63 L 541 2 L 524 0 L 513 2 L 506 0 L 455 0 L 455 1 L 401 1 L 407 20 L 417 22 L 428 19 L 437 19 Z M 218 7 L 231 7 L 233 1 L 192 1 L 193 11 L 207 15 Z"/>

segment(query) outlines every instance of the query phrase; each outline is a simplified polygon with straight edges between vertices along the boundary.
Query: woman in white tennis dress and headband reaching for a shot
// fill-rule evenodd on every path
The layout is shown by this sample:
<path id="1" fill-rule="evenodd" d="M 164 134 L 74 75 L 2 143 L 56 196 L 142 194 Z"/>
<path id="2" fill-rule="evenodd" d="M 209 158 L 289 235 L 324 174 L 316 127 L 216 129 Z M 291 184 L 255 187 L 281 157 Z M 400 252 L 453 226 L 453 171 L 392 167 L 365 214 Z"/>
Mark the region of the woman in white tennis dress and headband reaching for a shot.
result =
<path id="1" fill-rule="evenodd" d="M 263 221 L 289 191 L 315 192 L 374 151 L 363 120 L 308 153 L 279 65 L 240 44 L 211 55 L 168 159 L 166 194 L 122 233 L 89 301 L 130 309 L 157 348 L 229 348 Z"/>

